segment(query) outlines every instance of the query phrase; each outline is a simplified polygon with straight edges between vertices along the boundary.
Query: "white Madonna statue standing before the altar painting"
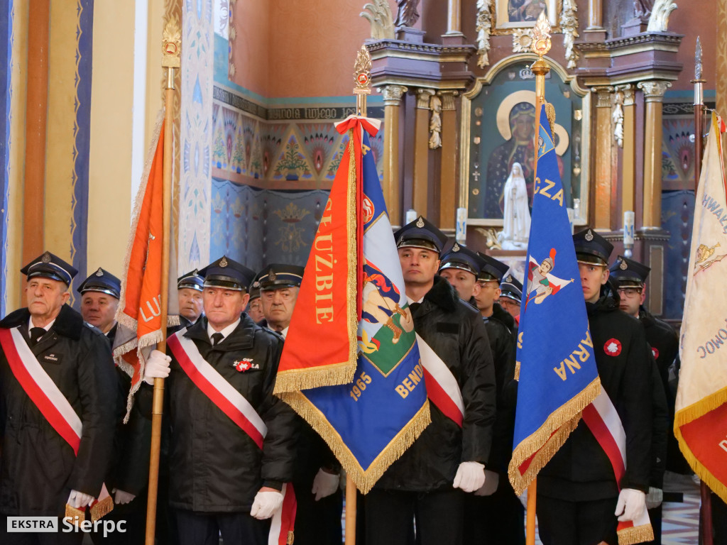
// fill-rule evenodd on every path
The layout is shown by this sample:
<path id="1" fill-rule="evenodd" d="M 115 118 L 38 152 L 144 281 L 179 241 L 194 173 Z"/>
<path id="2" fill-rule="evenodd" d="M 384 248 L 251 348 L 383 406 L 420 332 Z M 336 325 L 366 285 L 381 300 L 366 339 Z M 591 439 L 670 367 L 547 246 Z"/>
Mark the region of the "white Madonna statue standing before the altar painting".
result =
<path id="1" fill-rule="evenodd" d="M 528 208 L 528 190 L 523 177 L 523 167 L 513 163 L 510 176 L 507 177 L 502 190 L 505 202 L 502 233 L 498 238 L 504 250 L 527 249 L 530 235 L 530 209 Z"/>

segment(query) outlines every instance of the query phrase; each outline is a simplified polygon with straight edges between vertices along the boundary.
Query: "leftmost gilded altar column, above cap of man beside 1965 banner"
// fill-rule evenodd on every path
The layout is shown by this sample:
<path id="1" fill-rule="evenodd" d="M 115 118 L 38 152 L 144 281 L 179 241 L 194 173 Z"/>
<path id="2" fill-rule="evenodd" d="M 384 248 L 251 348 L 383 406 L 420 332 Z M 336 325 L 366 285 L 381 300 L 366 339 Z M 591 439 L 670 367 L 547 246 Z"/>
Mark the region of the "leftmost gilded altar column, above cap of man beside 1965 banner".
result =
<path id="1" fill-rule="evenodd" d="M 399 118 L 401 117 L 401 97 L 406 93 L 406 87 L 387 85 L 381 92 L 384 97 L 384 181 L 382 188 L 391 225 L 401 225 Z"/>

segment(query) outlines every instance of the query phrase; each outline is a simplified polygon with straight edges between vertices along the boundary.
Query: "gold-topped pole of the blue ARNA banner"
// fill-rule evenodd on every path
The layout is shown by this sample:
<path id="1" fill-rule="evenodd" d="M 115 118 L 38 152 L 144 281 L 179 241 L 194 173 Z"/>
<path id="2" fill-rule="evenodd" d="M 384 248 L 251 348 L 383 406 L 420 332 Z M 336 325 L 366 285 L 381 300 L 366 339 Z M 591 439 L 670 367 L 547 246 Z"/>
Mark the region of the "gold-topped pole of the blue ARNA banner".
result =
<path id="1" fill-rule="evenodd" d="M 541 12 L 537 23 L 532 30 L 532 49 L 538 55 L 538 60 L 533 62 L 530 69 L 535 74 L 535 171 L 533 179 L 537 177 L 538 165 L 538 135 L 540 134 L 540 108 L 545 102 L 545 76 L 550 72 L 550 65 L 543 58 L 550 51 L 550 23 Z M 549 117 L 550 119 L 550 117 Z M 553 121 L 551 121 L 552 123 Z M 533 195 L 534 196 L 534 195 Z M 533 479 L 528 485 L 528 504 L 526 507 L 526 545 L 535 545 L 535 508 L 537 498 L 537 479 Z"/>

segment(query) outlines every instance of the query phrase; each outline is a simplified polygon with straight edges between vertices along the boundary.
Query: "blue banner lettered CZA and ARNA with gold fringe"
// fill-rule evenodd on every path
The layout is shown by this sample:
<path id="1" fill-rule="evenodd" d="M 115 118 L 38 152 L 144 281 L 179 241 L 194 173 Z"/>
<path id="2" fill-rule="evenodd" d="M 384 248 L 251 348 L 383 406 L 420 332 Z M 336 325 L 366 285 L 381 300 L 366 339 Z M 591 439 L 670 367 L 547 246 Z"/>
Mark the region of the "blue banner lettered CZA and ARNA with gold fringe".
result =
<path id="1" fill-rule="evenodd" d="M 533 214 L 518 333 L 518 404 L 510 483 L 521 494 L 601 389 L 555 156 L 540 111 Z"/>

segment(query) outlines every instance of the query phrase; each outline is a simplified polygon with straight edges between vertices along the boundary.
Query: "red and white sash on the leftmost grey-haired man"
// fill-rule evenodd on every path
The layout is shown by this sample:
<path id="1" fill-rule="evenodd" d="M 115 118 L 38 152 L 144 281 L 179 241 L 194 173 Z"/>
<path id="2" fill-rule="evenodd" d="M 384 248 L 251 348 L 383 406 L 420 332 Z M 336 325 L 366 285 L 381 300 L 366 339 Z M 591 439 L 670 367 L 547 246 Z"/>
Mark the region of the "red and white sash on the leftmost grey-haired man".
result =
<path id="1" fill-rule="evenodd" d="M 53 429 L 71 445 L 78 456 L 83 424 L 71 403 L 48 376 L 20 334 L 20 328 L 0 329 L 0 345 L 12 374 L 31 401 L 36 405 Z M 98 499 L 89 504 L 91 517 L 98 520 L 113 509 L 113 500 L 106 485 L 101 487 Z"/>

